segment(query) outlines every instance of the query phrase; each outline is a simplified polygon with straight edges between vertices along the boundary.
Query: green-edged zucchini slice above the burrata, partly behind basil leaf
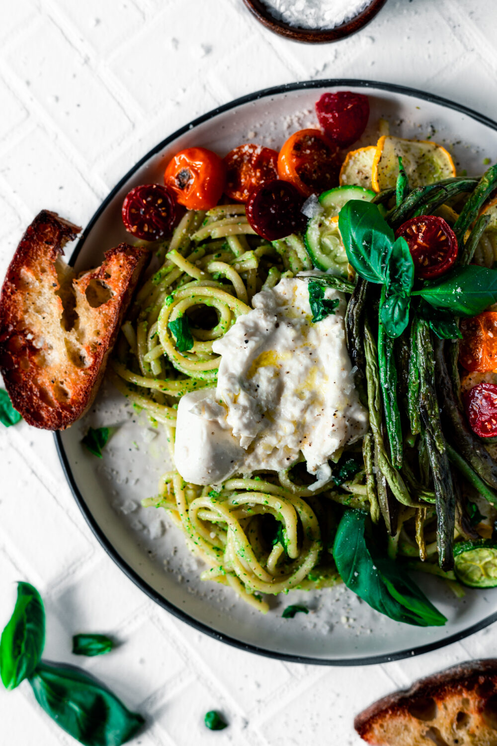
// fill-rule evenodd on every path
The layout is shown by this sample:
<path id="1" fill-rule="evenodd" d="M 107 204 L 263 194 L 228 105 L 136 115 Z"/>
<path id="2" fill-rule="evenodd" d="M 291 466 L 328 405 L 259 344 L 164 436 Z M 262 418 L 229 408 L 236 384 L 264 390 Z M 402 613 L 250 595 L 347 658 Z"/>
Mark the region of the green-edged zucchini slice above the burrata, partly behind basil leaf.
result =
<path id="1" fill-rule="evenodd" d="M 322 212 L 309 219 L 304 236 L 315 269 L 346 278 L 349 260 L 338 231 L 338 213 L 349 199 L 371 201 L 375 192 L 362 186 L 337 186 L 318 198 Z"/>

